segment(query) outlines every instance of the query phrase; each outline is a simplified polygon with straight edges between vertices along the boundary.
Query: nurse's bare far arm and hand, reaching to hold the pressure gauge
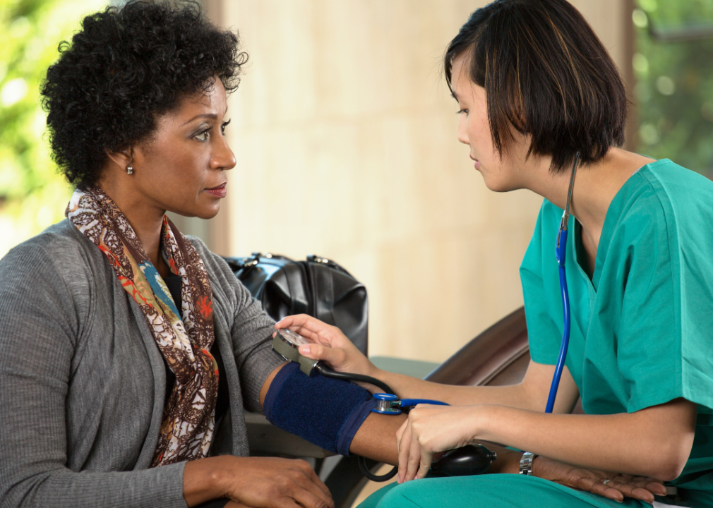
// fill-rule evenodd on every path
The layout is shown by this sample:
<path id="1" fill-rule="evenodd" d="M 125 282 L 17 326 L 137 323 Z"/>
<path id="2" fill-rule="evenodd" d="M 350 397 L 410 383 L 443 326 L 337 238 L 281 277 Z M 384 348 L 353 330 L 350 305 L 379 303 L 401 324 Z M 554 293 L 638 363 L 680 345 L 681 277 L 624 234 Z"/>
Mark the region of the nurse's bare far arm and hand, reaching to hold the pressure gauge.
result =
<path id="1" fill-rule="evenodd" d="M 376 368 L 339 328 L 322 323 L 312 316 L 287 316 L 275 327 L 290 328 L 312 341 L 312 344 L 299 348 L 302 355 L 325 361 L 334 370 L 378 378 L 391 386 L 401 398 L 430 398 L 451 405 L 501 404 L 512 408 L 543 411 L 555 371 L 554 366 L 531 361 L 525 378 L 517 385 L 441 385 Z M 365 384 L 364 387 L 372 393 L 381 391 L 373 385 Z M 577 385 L 565 367 L 555 402 L 555 413 L 570 413 L 578 398 Z"/>

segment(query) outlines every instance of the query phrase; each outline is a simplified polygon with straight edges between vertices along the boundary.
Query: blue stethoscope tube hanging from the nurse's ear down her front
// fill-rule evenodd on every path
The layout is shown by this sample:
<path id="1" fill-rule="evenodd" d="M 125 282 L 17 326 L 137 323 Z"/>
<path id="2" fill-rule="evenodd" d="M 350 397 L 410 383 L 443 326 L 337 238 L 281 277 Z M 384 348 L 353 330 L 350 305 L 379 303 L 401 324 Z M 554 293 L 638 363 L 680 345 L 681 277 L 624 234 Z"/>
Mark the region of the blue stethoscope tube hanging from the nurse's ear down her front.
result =
<path id="1" fill-rule="evenodd" d="M 562 370 L 565 368 L 567 350 L 570 346 L 570 321 L 572 314 L 570 312 L 570 295 L 567 291 L 565 259 L 567 257 L 567 227 L 570 222 L 570 203 L 572 202 L 572 190 L 575 186 L 575 175 L 577 174 L 579 158 L 580 152 L 577 152 L 575 155 L 575 162 L 572 167 L 572 176 L 570 177 L 570 188 L 567 192 L 567 204 L 565 205 L 565 212 L 562 214 L 562 222 L 560 222 L 560 229 L 557 234 L 557 246 L 555 247 L 558 269 L 560 271 L 560 289 L 562 292 L 562 344 L 560 346 L 560 355 L 558 356 L 557 364 L 555 365 L 555 374 L 552 376 L 550 395 L 547 398 L 547 408 L 545 408 L 545 413 L 552 413 L 552 410 L 555 407 L 555 398 L 557 398 L 557 390 L 560 387 L 560 378 L 562 377 Z"/>

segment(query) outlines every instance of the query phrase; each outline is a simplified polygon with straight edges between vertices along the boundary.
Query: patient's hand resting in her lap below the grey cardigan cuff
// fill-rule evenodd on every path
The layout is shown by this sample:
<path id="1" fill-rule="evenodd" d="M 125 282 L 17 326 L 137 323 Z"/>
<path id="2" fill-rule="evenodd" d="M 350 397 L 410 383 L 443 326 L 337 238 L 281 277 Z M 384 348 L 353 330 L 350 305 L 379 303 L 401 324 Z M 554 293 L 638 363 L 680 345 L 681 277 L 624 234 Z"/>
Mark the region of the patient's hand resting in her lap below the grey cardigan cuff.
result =
<path id="1" fill-rule="evenodd" d="M 307 462 L 277 457 L 222 455 L 188 462 L 183 497 L 188 506 L 226 498 L 227 506 L 334 507 L 327 485 Z"/>

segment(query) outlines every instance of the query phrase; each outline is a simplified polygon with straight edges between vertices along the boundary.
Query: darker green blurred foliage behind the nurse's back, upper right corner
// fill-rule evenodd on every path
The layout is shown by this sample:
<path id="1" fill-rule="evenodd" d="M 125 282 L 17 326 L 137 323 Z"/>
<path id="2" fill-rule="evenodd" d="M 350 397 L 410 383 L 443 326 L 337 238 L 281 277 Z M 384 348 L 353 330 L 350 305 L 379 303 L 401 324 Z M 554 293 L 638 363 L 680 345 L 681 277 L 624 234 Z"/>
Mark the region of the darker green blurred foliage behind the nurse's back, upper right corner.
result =
<path id="1" fill-rule="evenodd" d="M 638 0 L 639 149 L 713 177 L 713 0 Z M 657 31 L 709 31 L 707 38 L 655 41 Z"/>

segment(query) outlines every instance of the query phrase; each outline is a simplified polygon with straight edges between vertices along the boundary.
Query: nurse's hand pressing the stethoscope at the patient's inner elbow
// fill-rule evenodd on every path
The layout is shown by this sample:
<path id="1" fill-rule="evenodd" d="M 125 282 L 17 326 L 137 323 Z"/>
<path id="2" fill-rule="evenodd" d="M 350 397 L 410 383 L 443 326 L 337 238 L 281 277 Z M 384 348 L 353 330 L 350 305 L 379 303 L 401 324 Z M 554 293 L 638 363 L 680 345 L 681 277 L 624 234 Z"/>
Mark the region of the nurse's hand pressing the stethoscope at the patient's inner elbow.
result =
<path id="1" fill-rule="evenodd" d="M 396 431 L 399 483 L 423 478 L 437 452 L 469 445 L 478 406 L 419 404 Z"/>

